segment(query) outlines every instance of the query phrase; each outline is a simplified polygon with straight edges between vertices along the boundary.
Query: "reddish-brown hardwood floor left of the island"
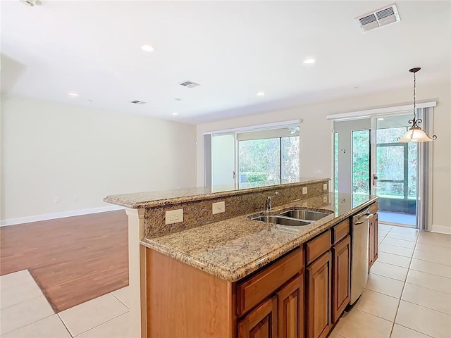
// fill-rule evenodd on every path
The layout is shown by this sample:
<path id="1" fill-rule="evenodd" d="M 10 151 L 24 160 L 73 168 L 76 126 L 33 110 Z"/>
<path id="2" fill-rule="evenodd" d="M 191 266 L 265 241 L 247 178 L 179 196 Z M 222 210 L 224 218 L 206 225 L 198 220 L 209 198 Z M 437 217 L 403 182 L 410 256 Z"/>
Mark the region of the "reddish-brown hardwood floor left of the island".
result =
<path id="1" fill-rule="evenodd" d="M 0 275 L 28 269 L 60 312 L 128 285 L 125 211 L 0 228 Z"/>

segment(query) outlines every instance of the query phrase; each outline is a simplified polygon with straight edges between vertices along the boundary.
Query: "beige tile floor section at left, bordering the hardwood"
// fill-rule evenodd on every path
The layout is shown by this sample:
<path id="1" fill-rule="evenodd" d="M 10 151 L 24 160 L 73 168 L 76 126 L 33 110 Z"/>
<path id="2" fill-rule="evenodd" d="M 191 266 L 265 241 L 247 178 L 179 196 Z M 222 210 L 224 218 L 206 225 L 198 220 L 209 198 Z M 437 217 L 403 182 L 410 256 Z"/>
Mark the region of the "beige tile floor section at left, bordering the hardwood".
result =
<path id="1" fill-rule="evenodd" d="M 27 270 L 0 277 L 1 338 L 128 337 L 128 287 L 54 313 Z"/>

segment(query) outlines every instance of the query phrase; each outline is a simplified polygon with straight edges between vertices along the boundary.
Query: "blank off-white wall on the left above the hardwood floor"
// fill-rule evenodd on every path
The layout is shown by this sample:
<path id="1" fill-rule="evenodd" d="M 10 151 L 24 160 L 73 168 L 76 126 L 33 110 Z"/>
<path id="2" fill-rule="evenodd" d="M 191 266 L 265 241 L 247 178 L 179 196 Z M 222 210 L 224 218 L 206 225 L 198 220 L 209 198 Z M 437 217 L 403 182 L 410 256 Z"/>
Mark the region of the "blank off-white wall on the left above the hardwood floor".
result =
<path id="1" fill-rule="evenodd" d="M 184 123 L 2 97 L 1 220 L 111 206 L 102 201 L 109 194 L 194 187 L 195 132 Z"/>

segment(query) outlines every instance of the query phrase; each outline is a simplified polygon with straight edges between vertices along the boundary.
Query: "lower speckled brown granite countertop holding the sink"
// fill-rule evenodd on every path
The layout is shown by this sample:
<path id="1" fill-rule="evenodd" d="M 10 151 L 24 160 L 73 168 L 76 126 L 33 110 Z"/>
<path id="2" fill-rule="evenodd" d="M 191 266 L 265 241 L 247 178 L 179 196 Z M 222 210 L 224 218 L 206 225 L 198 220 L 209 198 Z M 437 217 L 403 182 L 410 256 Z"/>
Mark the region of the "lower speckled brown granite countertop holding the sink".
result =
<path id="1" fill-rule="evenodd" d="M 162 237 L 144 238 L 140 243 L 223 280 L 236 282 L 376 199 L 371 195 L 323 194 L 293 201 L 271 211 L 275 214 L 295 206 L 330 212 L 310 225 L 286 227 L 250 220 L 249 215 L 258 215 L 253 213 Z M 329 204 L 325 205 L 324 201 Z"/>

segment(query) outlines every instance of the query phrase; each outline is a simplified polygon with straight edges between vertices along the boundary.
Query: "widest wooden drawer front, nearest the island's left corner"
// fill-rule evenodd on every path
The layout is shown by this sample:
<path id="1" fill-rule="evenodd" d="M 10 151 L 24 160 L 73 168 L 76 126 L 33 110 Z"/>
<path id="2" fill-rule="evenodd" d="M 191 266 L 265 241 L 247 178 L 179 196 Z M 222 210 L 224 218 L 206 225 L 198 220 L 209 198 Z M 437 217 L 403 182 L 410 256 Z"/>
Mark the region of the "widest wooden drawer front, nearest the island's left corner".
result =
<path id="1" fill-rule="evenodd" d="M 302 270 L 302 249 L 296 249 L 261 273 L 237 285 L 237 315 L 240 316 L 271 295 Z"/>

